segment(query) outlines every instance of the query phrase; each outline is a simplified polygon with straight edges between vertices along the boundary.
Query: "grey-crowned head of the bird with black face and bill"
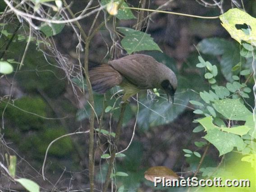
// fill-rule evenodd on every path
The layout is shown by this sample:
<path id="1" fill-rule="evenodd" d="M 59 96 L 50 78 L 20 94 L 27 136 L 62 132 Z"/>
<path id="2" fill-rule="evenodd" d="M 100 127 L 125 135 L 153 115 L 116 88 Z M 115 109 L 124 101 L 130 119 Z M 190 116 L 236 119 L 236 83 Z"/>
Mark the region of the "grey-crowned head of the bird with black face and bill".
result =
<path id="1" fill-rule="evenodd" d="M 177 89 L 177 78 L 173 71 L 171 71 L 168 77 L 161 82 L 161 87 L 165 90 L 168 97 L 168 101 L 170 96 L 172 99 L 172 102 L 174 103 L 174 93 Z"/>

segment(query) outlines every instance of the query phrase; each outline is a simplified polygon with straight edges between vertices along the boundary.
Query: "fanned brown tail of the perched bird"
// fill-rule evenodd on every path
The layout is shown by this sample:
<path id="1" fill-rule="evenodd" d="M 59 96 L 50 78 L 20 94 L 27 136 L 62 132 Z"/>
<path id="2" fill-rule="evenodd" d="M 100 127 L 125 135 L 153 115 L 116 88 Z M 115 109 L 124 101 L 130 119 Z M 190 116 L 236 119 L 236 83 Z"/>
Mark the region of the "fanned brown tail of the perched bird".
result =
<path id="1" fill-rule="evenodd" d="M 123 80 L 122 75 L 108 64 L 90 69 L 89 77 L 93 91 L 98 93 L 105 93 Z"/>

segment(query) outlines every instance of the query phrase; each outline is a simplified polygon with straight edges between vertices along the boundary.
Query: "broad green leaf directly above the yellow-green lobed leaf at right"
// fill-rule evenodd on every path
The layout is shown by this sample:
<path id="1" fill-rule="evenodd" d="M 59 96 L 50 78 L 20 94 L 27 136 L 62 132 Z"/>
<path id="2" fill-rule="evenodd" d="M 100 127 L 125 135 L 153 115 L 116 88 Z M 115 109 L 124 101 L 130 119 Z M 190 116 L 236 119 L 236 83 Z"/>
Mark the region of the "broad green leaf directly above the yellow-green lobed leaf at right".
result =
<path id="1" fill-rule="evenodd" d="M 240 102 L 240 99 L 217 100 L 213 106 L 216 111 L 229 120 L 245 121 L 247 116 L 251 115 L 251 111 Z"/>

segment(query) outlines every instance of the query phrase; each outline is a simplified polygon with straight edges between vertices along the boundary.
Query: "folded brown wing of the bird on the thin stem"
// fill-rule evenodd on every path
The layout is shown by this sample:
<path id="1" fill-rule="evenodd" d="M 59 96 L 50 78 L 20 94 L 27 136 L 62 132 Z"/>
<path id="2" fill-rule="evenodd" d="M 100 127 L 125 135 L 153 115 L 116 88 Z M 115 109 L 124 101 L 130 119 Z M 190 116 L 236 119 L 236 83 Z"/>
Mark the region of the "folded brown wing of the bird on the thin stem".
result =
<path id="1" fill-rule="evenodd" d="M 128 55 L 112 60 L 109 64 L 135 86 L 140 89 L 149 89 L 152 87 L 149 83 L 151 74 L 147 73 L 146 69 L 150 65 L 148 57 L 141 54 Z"/>

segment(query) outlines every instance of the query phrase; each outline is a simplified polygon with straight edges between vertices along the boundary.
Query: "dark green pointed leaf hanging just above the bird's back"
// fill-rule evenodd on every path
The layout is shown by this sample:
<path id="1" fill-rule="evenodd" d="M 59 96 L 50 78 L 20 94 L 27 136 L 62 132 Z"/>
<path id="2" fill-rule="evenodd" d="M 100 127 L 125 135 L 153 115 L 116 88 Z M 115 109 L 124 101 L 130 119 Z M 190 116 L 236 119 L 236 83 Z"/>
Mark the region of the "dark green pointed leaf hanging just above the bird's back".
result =
<path id="1" fill-rule="evenodd" d="M 159 50 L 162 52 L 149 34 L 127 27 L 117 27 L 117 29 L 125 35 L 121 45 L 129 55 L 141 50 Z"/>

